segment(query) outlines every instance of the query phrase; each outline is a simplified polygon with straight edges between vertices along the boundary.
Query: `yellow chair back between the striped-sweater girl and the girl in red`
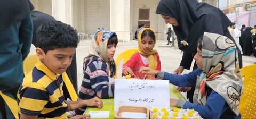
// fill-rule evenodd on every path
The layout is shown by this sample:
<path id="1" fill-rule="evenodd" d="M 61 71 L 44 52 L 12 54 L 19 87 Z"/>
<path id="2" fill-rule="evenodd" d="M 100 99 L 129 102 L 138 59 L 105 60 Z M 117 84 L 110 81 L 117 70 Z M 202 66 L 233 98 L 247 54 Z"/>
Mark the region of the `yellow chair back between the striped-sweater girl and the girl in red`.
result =
<path id="1" fill-rule="evenodd" d="M 117 78 L 118 65 L 119 65 L 120 61 L 123 59 L 123 64 L 126 63 L 132 57 L 132 55 L 137 53 L 138 51 L 139 51 L 138 48 L 137 49 L 135 49 L 135 48 L 127 49 L 116 57 L 116 60 L 115 60 L 115 62 L 116 62 L 116 76 L 115 76 L 115 78 Z M 125 77 L 130 78 L 131 75 L 126 75 Z"/>

